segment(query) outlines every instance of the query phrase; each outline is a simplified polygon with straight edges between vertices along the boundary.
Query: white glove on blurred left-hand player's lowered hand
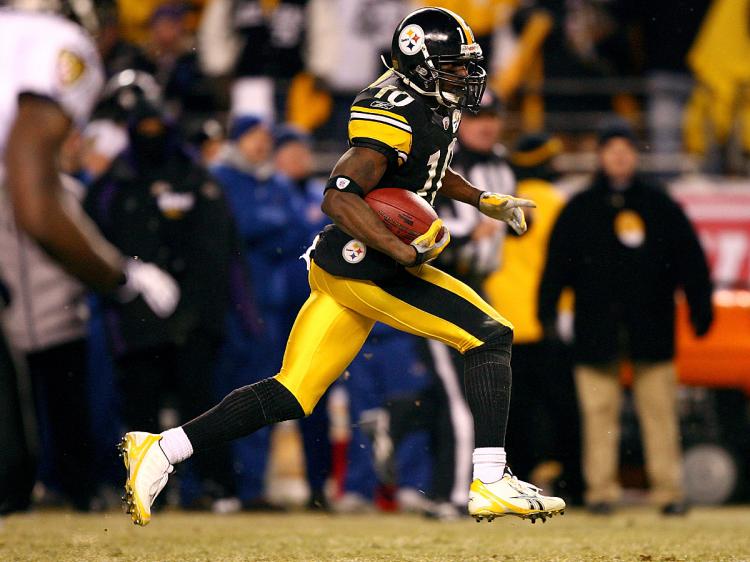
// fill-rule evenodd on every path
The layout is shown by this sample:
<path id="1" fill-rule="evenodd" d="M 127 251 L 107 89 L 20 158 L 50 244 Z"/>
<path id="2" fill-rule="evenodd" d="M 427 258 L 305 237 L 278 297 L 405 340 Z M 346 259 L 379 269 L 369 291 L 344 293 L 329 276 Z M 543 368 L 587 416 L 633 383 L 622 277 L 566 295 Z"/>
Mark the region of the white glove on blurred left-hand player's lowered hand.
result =
<path id="1" fill-rule="evenodd" d="M 141 295 L 159 318 L 172 315 L 180 302 L 180 288 L 169 273 L 137 259 L 125 263 L 124 273 L 125 284 L 117 293 L 120 302 L 130 302 Z"/>

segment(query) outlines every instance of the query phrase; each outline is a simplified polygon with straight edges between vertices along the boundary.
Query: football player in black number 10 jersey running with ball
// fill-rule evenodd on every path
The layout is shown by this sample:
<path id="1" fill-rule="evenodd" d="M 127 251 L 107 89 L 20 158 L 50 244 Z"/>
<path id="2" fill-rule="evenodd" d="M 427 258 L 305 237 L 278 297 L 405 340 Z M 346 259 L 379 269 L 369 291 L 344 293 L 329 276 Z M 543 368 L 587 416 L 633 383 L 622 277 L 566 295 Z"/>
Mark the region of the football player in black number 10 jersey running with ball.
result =
<path id="1" fill-rule="evenodd" d="M 512 326 L 468 286 L 427 264 L 450 239 L 439 219 L 405 244 L 363 200 L 373 189 L 398 187 L 432 204 L 440 190 L 525 231 L 522 208 L 531 201 L 484 192 L 450 169 L 461 112 L 476 110 L 484 92 L 481 60 L 481 47 L 453 12 L 423 8 L 398 25 L 391 67 L 352 105 L 350 148 L 333 169 L 322 206 L 335 224 L 307 254 L 311 294 L 279 373 L 235 390 L 182 427 L 125 435 L 126 499 L 135 523 L 148 523 L 172 465 L 194 450 L 308 415 L 376 321 L 464 354 L 476 446 L 469 513 L 534 521 L 563 511 L 560 498 L 541 495 L 505 466 Z"/>

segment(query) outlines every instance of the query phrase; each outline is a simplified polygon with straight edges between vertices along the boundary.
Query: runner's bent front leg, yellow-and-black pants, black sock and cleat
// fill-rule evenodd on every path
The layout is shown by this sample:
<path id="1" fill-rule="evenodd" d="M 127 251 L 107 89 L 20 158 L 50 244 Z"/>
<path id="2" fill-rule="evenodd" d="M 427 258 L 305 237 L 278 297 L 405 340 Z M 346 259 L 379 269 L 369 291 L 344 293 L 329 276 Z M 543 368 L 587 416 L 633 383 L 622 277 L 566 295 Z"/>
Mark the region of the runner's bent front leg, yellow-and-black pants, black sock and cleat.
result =
<path id="1" fill-rule="evenodd" d="M 464 354 L 466 398 L 474 417 L 474 515 L 491 519 L 511 513 L 533 520 L 564 509 L 561 499 L 539 495 L 505 470 L 513 339 L 507 320 L 467 285 L 430 266 L 379 282 L 335 277 L 315 264 L 310 276 L 342 305 Z"/>

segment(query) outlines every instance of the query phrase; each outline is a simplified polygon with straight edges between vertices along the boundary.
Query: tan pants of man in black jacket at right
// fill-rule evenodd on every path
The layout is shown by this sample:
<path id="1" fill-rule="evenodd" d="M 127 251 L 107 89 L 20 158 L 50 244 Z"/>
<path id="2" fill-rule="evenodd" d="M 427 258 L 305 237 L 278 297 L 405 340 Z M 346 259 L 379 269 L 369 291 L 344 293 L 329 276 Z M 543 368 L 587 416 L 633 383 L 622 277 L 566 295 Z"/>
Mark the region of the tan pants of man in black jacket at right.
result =
<path id="1" fill-rule="evenodd" d="M 576 365 L 583 423 L 586 503 L 616 502 L 622 386 L 618 365 Z M 658 505 L 682 499 L 682 461 L 677 416 L 677 376 L 671 361 L 636 363 L 633 395 L 644 442 L 651 499 Z"/>

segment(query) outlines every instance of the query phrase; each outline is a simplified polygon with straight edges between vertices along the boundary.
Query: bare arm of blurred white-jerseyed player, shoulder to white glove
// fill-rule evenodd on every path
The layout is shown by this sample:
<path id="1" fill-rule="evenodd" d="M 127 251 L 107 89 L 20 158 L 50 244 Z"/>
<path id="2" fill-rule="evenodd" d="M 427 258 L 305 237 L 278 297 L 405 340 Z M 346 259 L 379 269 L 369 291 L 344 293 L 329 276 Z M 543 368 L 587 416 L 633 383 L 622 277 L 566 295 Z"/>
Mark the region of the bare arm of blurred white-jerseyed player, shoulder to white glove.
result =
<path id="1" fill-rule="evenodd" d="M 22 95 L 5 155 L 6 182 L 18 226 L 68 272 L 103 292 L 124 281 L 123 258 L 80 207 L 66 206 L 57 155 L 71 121 L 46 98 Z"/>

